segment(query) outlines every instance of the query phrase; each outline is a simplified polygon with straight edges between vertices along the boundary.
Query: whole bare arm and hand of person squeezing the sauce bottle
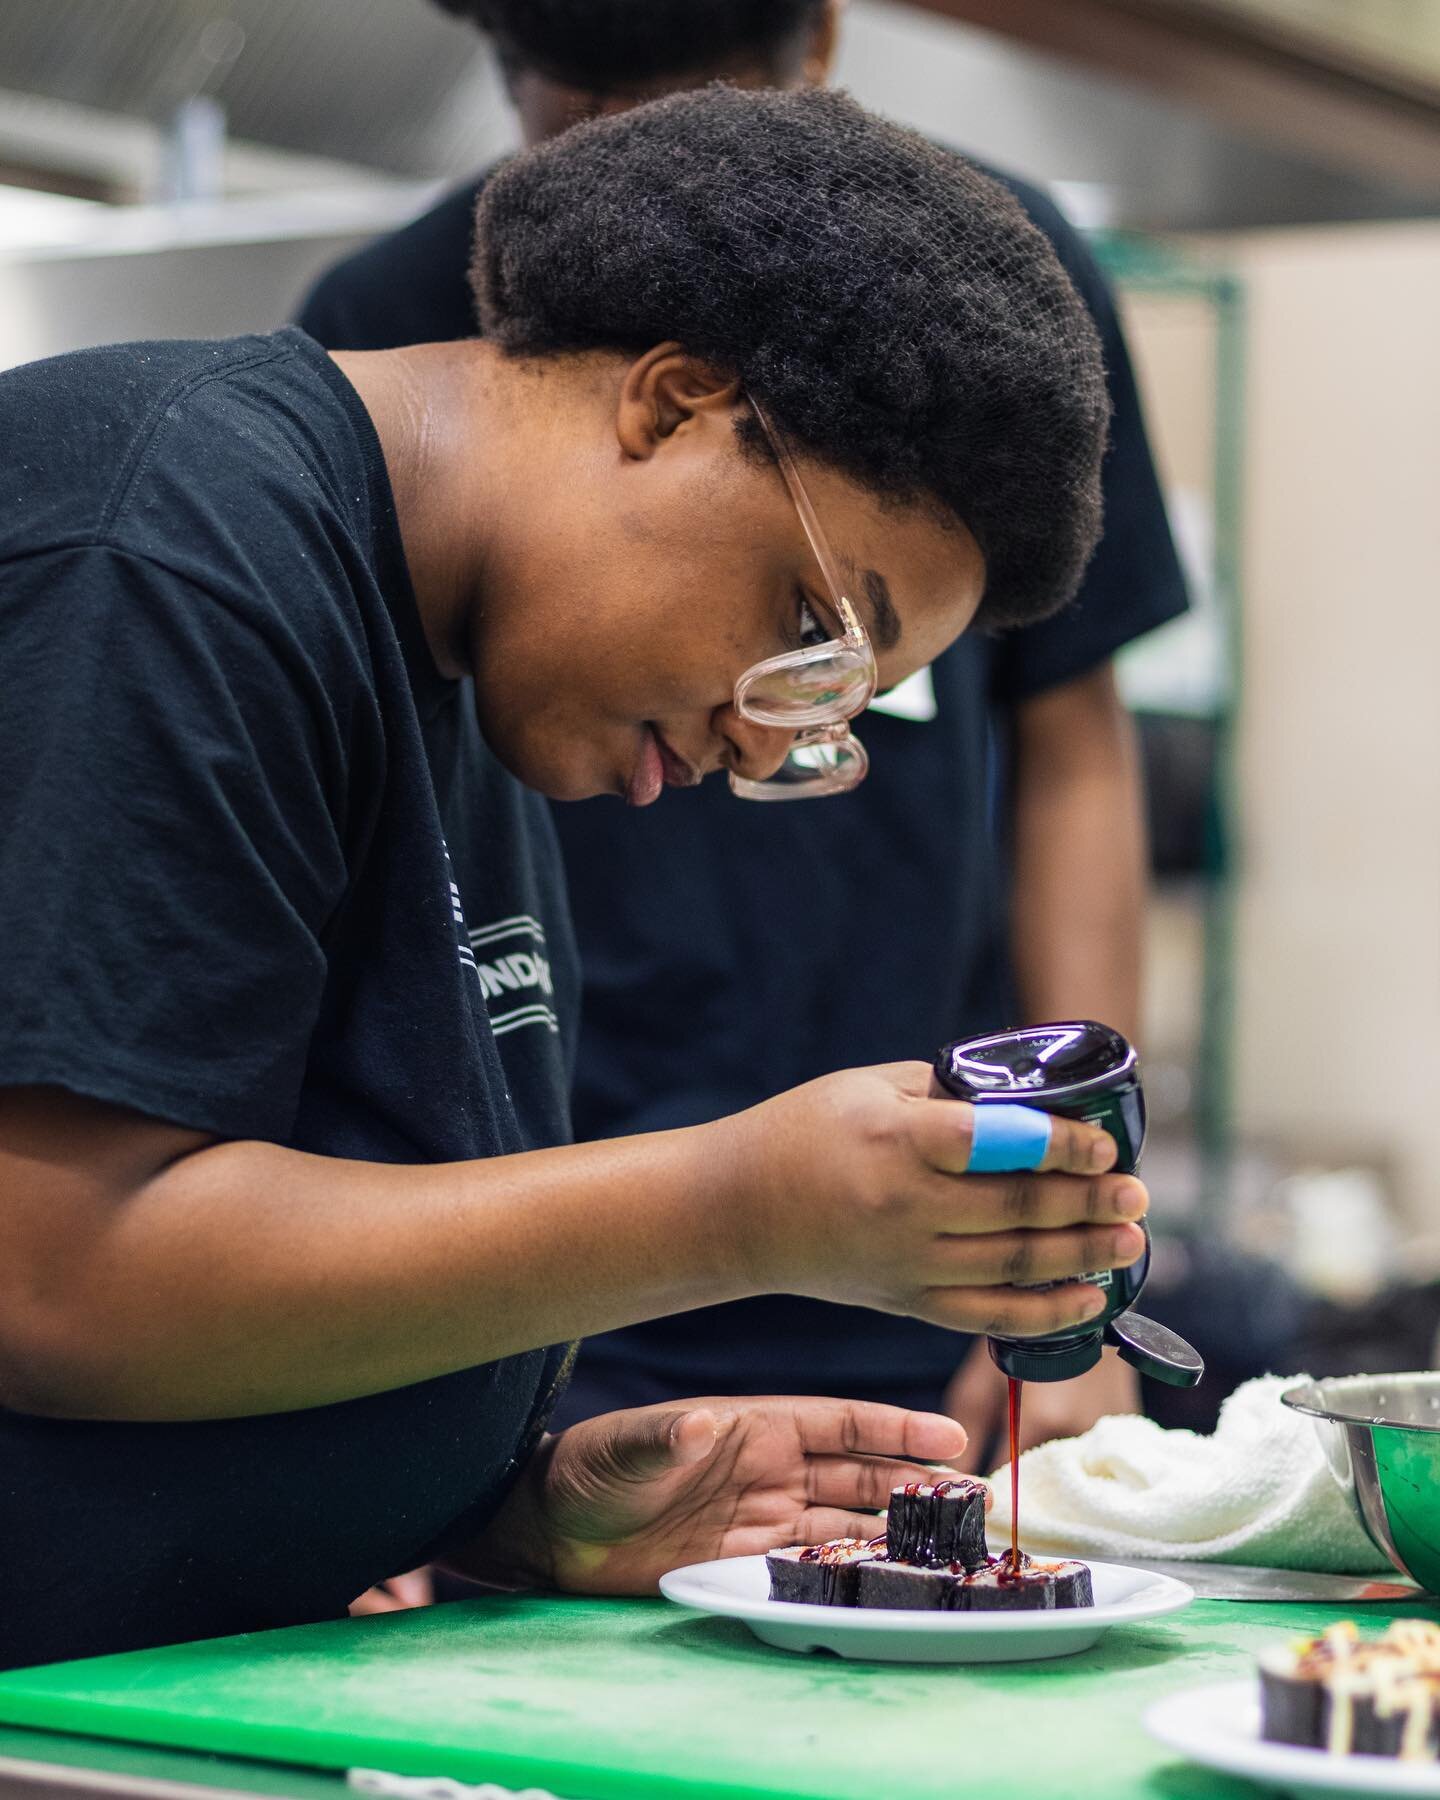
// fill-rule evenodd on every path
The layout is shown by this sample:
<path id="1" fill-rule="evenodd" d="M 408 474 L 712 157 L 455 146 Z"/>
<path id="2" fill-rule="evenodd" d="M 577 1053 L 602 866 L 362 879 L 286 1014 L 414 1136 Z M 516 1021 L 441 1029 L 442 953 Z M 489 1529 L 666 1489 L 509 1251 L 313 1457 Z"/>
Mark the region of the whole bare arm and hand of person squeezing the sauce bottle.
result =
<path id="1" fill-rule="evenodd" d="M 850 1069 L 713 1125 L 421 1168 L 0 1091 L 0 1404 L 288 1411 L 756 1292 L 1006 1336 L 1091 1316 L 1067 1278 L 1145 1247 L 1114 1145 L 1057 1121 L 1039 1174 L 958 1181 L 970 1109 L 929 1082 Z"/>

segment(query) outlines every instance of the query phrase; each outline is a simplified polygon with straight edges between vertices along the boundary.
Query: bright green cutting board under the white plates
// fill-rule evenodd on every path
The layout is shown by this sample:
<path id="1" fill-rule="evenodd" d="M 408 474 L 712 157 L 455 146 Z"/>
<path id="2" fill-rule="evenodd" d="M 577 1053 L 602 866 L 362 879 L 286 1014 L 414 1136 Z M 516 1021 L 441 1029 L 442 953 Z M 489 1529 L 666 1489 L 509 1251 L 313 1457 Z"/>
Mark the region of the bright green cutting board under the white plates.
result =
<path id="1" fill-rule="evenodd" d="M 504 1597 L 20 1670 L 0 1721 L 565 1800 L 1240 1800 L 1143 1710 L 1337 1616 L 1202 1600 L 1058 1661 L 916 1669 L 794 1656 L 662 1600 Z"/>

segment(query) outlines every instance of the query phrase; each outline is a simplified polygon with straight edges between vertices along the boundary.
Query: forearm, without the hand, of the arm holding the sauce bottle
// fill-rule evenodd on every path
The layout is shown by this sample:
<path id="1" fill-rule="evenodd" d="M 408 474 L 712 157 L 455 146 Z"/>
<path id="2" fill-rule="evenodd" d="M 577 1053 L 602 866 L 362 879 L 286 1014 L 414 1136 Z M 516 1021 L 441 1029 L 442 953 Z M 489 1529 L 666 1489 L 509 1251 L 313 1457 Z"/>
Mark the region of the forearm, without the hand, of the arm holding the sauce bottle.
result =
<path id="1" fill-rule="evenodd" d="M 32 1192 L 74 1217 L 11 1321 L 31 1354 L 7 1359 L 5 1397 L 61 1417 L 288 1411 L 736 1298 L 713 1138 L 443 1166 L 220 1143 L 119 1201 Z"/>

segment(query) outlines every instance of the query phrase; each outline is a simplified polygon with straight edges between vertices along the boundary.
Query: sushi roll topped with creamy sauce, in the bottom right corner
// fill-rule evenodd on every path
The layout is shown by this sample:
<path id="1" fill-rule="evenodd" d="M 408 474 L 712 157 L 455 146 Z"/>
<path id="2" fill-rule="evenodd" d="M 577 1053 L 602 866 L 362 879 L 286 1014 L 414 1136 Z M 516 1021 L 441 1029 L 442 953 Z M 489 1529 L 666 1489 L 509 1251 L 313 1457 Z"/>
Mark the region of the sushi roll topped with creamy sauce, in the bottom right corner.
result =
<path id="1" fill-rule="evenodd" d="M 1440 1757 L 1440 1625 L 1399 1618 L 1381 1638 L 1348 1620 L 1260 1658 L 1260 1735 L 1332 1755 Z"/>

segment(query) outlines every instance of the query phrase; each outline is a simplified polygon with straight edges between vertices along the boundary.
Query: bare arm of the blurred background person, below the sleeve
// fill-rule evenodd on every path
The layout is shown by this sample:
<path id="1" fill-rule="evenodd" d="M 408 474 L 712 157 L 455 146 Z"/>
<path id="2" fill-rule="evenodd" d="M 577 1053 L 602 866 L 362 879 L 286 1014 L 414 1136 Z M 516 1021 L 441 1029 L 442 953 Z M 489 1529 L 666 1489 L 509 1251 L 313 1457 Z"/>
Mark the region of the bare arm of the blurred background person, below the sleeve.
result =
<path id="1" fill-rule="evenodd" d="M 1015 729 L 1012 950 L 1024 1019 L 1139 1030 L 1145 814 L 1109 664 L 1024 702 Z"/>

